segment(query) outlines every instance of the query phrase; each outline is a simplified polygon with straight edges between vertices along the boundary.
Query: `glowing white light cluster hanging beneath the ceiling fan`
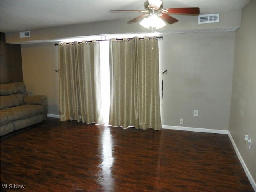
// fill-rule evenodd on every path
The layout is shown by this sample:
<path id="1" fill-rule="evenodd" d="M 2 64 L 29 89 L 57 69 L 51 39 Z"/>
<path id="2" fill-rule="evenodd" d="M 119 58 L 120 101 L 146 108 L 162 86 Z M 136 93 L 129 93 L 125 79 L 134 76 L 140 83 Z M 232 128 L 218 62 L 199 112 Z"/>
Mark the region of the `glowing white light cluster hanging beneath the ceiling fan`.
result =
<path id="1" fill-rule="evenodd" d="M 159 18 L 157 14 L 152 14 L 152 15 L 144 18 L 140 22 L 140 25 L 147 29 L 149 29 L 149 27 L 160 29 L 160 28 L 166 26 L 166 23 L 161 18 Z"/>

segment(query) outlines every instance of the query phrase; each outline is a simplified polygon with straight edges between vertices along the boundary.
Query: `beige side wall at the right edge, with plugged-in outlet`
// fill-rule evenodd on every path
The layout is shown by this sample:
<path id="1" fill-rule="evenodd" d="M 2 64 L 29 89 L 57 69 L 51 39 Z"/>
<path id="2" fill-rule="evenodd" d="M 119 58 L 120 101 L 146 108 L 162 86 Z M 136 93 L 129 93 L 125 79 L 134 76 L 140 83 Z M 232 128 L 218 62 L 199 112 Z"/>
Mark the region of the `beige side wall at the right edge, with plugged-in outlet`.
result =
<path id="1" fill-rule="evenodd" d="M 234 53 L 229 131 L 256 181 L 256 1 L 242 11 Z M 252 138 L 251 149 L 244 143 L 246 134 Z"/>

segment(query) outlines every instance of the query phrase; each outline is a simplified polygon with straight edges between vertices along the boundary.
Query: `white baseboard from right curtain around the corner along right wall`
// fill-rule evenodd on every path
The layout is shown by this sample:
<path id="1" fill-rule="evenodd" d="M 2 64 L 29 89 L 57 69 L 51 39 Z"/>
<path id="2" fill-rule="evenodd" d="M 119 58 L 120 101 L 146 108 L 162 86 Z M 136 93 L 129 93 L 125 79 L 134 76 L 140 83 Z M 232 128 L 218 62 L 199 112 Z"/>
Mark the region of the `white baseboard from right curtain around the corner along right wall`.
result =
<path id="1" fill-rule="evenodd" d="M 254 191 L 256 191 L 256 183 L 255 183 L 254 179 L 252 178 L 252 175 L 250 174 L 250 171 L 248 170 L 248 168 L 247 168 L 240 152 L 238 151 L 238 148 L 236 147 L 236 144 L 228 130 L 204 129 L 204 128 L 169 126 L 169 125 L 162 125 L 162 128 L 163 129 L 172 129 L 172 130 L 192 131 L 192 132 L 228 134 L 228 137 L 234 147 L 236 155 L 238 156 L 238 159 L 240 160 L 240 163 L 242 164 L 242 167 L 244 168 L 244 172 L 245 172 L 246 176 L 248 177 L 248 179 L 252 185 L 252 188 L 254 189 Z"/>

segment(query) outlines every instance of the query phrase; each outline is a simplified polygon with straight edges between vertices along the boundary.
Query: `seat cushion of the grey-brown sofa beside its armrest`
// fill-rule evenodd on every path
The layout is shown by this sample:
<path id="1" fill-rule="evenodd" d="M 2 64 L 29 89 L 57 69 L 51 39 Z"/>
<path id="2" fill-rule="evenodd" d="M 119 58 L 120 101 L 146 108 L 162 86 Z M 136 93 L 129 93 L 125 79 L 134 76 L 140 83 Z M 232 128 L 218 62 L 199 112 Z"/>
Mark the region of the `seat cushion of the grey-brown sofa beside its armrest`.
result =
<path id="1" fill-rule="evenodd" d="M 40 105 L 20 105 L 1 110 L 1 112 L 8 112 L 12 114 L 14 121 L 29 118 L 42 114 L 44 112 L 43 107 Z M 1 119 L 2 121 L 2 119 Z"/>

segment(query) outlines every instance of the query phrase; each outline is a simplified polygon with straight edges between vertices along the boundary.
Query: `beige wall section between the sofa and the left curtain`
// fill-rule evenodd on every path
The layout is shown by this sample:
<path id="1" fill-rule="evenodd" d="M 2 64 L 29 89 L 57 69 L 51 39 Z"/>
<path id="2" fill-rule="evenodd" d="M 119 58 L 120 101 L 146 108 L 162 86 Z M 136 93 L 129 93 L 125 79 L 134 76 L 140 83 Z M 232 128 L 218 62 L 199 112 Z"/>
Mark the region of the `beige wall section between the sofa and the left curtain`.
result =
<path id="1" fill-rule="evenodd" d="M 28 94 L 48 96 L 48 114 L 59 114 L 58 46 L 54 43 L 22 45 L 23 80 Z"/>

